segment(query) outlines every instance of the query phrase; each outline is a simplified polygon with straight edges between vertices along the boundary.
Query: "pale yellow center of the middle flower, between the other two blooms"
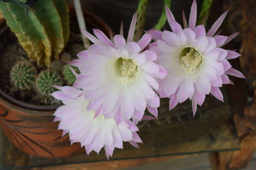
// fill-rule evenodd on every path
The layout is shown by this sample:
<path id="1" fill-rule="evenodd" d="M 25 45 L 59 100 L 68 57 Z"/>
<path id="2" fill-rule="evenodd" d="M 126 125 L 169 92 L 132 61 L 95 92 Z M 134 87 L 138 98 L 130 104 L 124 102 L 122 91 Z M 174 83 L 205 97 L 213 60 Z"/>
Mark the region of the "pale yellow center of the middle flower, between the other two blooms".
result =
<path id="1" fill-rule="evenodd" d="M 110 70 L 112 70 L 112 76 L 122 87 L 130 86 L 138 80 L 140 75 L 136 61 L 127 57 L 120 57 L 114 62 L 111 62 Z"/>

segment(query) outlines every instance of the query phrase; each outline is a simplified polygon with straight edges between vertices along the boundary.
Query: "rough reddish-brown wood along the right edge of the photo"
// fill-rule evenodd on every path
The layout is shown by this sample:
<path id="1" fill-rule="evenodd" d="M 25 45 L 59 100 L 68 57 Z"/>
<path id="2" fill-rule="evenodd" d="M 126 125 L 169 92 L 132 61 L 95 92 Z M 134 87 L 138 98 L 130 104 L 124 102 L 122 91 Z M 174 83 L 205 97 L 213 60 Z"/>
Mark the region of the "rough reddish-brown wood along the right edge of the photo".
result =
<path id="1" fill-rule="evenodd" d="M 229 9 L 227 21 L 224 23 L 225 33 L 230 35 L 240 31 L 231 46 L 239 49 L 241 45 L 239 52 L 242 56 L 239 60 L 241 70 L 247 77 L 248 93 L 246 94 L 244 81 L 233 77 L 235 86 L 231 91 L 242 85 L 238 94 L 234 94 L 230 101 L 233 103 L 241 150 L 211 154 L 211 161 L 214 170 L 239 170 L 248 165 L 256 150 L 256 1 L 246 0 L 245 3 L 244 0 L 228 0 L 223 8 L 224 11 Z M 232 64 L 239 68 L 238 60 L 234 60 Z M 247 102 L 247 96 L 253 100 Z"/>

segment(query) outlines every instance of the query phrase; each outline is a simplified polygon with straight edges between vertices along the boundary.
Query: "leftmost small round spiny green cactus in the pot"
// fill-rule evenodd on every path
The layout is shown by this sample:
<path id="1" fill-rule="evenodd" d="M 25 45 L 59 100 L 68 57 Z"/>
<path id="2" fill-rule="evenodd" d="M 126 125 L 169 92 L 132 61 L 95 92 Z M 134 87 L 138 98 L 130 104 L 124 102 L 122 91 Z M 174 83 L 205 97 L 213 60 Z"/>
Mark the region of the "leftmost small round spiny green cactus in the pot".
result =
<path id="1" fill-rule="evenodd" d="M 28 89 L 36 79 L 36 68 L 30 62 L 17 62 L 10 71 L 11 82 L 19 89 Z"/>

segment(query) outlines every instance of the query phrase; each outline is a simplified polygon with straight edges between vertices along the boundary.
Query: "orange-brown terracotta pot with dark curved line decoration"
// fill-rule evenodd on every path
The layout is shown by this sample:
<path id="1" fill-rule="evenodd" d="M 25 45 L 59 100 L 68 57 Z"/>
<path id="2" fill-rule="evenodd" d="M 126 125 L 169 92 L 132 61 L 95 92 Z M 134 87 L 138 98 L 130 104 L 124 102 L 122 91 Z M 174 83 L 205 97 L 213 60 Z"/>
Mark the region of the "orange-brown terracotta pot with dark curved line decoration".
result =
<path id="1" fill-rule="evenodd" d="M 72 13 L 73 10 L 70 11 Z M 84 15 L 90 28 L 109 34 L 110 28 L 100 18 L 88 12 Z M 0 20 L 0 29 L 4 27 L 5 21 Z M 56 106 L 20 102 L 0 89 L 0 125 L 10 142 L 29 155 L 61 158 L 80 150 L 79 143 L 70 145 L 68 135 L 61 138 L 62 130 L 57 130 L 58 122 L 52 122 L 55 109 Z"/>

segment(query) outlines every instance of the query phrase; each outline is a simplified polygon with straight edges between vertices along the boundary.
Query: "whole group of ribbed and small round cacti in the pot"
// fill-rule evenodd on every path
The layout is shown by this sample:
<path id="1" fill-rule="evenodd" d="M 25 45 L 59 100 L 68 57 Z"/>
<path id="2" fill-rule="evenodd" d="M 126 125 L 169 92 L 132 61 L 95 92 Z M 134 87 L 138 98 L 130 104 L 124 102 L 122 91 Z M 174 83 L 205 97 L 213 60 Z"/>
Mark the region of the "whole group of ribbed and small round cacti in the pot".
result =
<path id="1" fill-rule="evenodd" d="M 0 0 L 0 11 L 28 58 L 39 67 L 29 61 L 17 62 L 10 72 L 11 83 L 20 90 L 36 87 L 43 95 L 57 90 L 52 85 L 72 85 L 75 76 L 67 65 L 71 57 L 64 52 L 64 61 L 59 59 L 70 34 L 65 0 Z M 70 48 L 72 57 L 84 50 L 82 45 Z"/>

